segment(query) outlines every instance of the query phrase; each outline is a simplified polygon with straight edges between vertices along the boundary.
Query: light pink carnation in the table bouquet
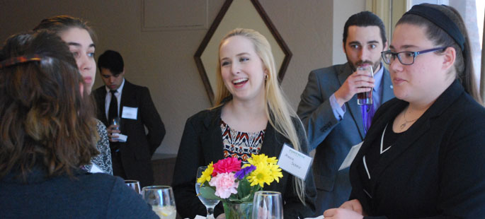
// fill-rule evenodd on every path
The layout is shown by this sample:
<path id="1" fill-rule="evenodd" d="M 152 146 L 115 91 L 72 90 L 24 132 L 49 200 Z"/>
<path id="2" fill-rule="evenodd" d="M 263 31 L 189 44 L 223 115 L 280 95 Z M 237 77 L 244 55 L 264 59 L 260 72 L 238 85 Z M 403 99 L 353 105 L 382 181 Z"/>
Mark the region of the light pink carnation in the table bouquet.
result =
<path id="1" fill-rule="evenodd" d="M 239 182 L 236 181 L 233 172 L 217 174 L 217 176 L 210 179 L 210 186 L 215 187 L 215 195 L 221 199 L 227 199 L 231 194 L 237 193 Z"/>

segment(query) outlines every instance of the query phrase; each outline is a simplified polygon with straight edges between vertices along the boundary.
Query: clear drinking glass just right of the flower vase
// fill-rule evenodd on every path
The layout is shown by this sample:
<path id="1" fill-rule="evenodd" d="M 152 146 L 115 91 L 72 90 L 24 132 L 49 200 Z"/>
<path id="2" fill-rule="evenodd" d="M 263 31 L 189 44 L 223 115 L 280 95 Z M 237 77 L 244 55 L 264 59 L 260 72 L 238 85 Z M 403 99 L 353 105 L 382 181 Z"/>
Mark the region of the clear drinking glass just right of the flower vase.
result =
<path id="1" fill-rule="evenodd" d="M 256 191 L 253 219 L 283 219 L 283 201 L 278 191 Z"/>

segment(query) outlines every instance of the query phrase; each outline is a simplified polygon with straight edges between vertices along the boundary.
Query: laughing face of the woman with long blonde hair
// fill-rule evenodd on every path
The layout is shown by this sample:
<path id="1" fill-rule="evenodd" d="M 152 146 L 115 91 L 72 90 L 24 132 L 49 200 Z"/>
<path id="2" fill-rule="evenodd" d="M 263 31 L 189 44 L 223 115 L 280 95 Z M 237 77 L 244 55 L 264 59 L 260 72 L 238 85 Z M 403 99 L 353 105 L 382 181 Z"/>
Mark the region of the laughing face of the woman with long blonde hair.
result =
<path id="1" fill-rule="evenodd" d="M 251 40 L 242 36 L 227 38 L 219 49 L 219 61 L 222 81 L 233 100 L 264 100 L 265 67 Z"/>

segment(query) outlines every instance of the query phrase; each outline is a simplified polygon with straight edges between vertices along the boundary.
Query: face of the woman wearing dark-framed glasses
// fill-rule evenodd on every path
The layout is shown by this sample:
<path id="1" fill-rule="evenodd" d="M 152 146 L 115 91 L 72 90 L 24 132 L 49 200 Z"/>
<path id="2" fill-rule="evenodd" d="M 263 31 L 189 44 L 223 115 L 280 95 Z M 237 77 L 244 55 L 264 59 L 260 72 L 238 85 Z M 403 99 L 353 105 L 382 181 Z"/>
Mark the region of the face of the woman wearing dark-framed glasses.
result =
<path id="1" fill-rule="evenodd" d="M 419 52 L 438 47 L 426 37 L 426 28 L 400 24 L 396 26 L 389 49 L 392 52 Z M 396 58 L 389 65 L 394 95 L 407 102 L 434 101 L 452 83 L 450 47 L 443 54 L 428 52 L 415 57 L 411 65 L 403 65 Z M 455 50 L 453 50 L 455 51 Z"/>

